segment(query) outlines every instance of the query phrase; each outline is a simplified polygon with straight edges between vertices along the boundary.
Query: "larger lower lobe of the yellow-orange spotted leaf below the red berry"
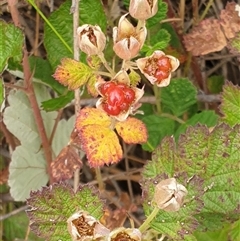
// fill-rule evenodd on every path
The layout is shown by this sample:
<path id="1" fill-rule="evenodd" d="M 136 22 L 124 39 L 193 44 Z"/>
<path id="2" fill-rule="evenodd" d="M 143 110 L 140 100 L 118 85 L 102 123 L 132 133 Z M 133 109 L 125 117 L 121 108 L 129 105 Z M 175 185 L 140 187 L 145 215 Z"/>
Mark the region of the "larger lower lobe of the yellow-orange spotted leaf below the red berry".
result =
<path id="1" fill-rule="evenodd" d="M 118 137 L 111 129 L 97 124 L 85 125 L 79 135 L 91 167 L 116 163 L 122 158 Z"/>

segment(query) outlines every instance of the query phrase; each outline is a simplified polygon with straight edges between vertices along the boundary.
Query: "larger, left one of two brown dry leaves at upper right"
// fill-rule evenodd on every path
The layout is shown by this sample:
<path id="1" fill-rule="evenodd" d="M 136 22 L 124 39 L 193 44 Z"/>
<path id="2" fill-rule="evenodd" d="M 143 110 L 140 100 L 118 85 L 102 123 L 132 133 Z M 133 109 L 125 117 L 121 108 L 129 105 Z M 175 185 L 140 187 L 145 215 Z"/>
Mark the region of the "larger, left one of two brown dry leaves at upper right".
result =
<path id="1" fill-rule="evenodd" d="M 219 21 L 206 19 L 184 36 L 184 44 L 187 51 L 199 56 L 222 50 L 227 45 L 227 40 Z"/>

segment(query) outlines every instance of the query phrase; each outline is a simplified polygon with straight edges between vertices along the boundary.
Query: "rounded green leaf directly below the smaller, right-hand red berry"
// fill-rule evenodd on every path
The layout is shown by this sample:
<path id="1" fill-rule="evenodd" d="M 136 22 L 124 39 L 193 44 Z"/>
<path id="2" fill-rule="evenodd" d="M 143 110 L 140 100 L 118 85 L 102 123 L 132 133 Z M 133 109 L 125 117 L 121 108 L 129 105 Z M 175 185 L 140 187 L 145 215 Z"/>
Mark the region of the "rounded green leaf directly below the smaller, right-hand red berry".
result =
<path id="1" fill-rule="evenodd" d="M 161 89 L 161 101 L 164 111 L 181 116 L 196 100 L 197 90 L 188 79 L 172 79 L 169 86 Z"/>

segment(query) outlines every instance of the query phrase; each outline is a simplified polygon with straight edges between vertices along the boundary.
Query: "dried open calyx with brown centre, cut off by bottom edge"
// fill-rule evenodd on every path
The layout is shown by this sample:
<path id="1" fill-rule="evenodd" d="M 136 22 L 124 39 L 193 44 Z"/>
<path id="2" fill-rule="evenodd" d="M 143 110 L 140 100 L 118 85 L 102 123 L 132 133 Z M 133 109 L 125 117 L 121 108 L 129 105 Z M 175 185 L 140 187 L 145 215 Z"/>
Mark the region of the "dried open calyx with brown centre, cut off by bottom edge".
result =
<path id="1" fill-rule="evenodd" d="M 136 228 L 117 228 L 113 230 L 107 239 L 107 241 L 141 241 L 142 234 Z"/>

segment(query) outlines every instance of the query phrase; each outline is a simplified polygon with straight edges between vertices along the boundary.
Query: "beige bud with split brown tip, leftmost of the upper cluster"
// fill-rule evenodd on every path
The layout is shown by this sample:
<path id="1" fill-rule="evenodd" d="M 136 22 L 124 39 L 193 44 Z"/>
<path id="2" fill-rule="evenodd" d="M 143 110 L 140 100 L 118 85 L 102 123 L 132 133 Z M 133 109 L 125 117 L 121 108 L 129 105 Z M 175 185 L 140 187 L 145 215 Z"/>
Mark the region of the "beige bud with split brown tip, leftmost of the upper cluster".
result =
<path id="1" fill-rule="evenodd" d="M 87 55 L 96 55 L 103 51 L 106 37 L 99 26 L 84 24 L 77 29 L 79 48 Z"/>

